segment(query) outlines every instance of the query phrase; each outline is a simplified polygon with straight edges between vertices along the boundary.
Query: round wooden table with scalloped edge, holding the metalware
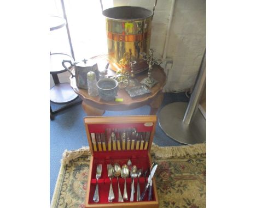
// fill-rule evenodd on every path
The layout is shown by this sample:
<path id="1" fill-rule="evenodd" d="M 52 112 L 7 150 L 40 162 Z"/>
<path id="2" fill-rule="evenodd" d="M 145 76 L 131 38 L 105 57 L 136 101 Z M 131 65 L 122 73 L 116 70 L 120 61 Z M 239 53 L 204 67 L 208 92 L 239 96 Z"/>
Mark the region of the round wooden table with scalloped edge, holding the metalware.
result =
<path id="1" fill-rule="evenodd" d="M 112 70 L 110 70 L 112 71 Z M 111 72 L 110 72 L 111 73 Z M 113 72 L 112 72 L 113 73 Z M 136 79 L 140 82 L 144 77 L 148 76 L 148 71 L 144 71 L 136 75 Z M 164 69 L 159 65 L 154 65 L 152 70 L 152 77 L 158 81 L 154 87 L 149 88 L 151 90 L 150 94 L 130 97 L 130 95 L 125 91 L 125 89 L 118 90 L 117 98 L 122 98 L 123 102 L 116 101 L 104 101 L 100 96 L 91 97 L 88 95 L 88 90 L 80 89 L 75 83 L 75 77 L 71 79 L 71 87 L 83 100 L 82 107 L 88 116 L 100 116 L 103 115 L 105 111 L 126 111 L 130 109 L 135 109 L 142 107 L 144 105 L 149 105 L 151 107 L 150 114 L 156 114 L 158 108 L 162 103 L 164 94 L 162 93 L 162 88 L 166 84 L 166 74 Z"/>

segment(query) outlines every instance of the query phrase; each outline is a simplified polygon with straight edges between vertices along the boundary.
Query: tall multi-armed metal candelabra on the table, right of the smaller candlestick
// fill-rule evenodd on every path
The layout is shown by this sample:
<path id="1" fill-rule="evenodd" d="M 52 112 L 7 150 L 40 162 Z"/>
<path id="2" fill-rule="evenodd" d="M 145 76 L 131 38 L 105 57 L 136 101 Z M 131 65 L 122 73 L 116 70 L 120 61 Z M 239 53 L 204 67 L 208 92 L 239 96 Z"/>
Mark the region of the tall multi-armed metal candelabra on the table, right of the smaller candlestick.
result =
<path id="1" fill-rule="evenodd" d="M 141 84 L 146 84 L 147 87 L 152 88 L 158 81 L 151 77 L 151 71 L 153 69 L 154 64 L 158 64 L 153 56 L 154 50 L 152 48 L 149 49 L 149 55 L 147 56 L 146 53 L 141 52 L 141 56 L 144 60 L 147 61 L 148 64 L 148 77 L 142 79 Z"/>

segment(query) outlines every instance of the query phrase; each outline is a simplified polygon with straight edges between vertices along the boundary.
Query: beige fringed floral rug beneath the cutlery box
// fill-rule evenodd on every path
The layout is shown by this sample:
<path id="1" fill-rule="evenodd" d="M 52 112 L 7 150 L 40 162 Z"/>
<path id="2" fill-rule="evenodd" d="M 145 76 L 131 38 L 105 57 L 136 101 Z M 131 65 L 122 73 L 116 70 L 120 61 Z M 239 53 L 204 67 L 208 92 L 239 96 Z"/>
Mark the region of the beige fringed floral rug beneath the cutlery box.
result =
<path id="1" fill-rule="evenodd" d="M 206 144 L 160 147 L 153 144 L 158 163 L 155 179 L 159 207 L 206 207 Z M 84 208 L 90 151 L 65 151 L 51 208 Z"/>

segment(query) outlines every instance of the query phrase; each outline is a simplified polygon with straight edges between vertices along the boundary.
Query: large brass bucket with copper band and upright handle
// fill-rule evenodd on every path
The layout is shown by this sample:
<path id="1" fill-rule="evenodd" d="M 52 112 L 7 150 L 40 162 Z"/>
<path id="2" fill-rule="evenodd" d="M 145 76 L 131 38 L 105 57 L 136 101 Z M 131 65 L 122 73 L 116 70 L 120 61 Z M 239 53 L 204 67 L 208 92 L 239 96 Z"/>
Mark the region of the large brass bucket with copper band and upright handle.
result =
<path id="1" fill-rule="evenodd" d="M 100 1 L 101 2 L 101 1 Z M 142 7 L 113 7 L 103 10 L 106 17 L 108 61 L 110 69 L 130 70 L 130 62 L 136 61 L 135 74 L 148 69 L 140 55 L 148 54 L 152 28 L 153 11 Z"/>

